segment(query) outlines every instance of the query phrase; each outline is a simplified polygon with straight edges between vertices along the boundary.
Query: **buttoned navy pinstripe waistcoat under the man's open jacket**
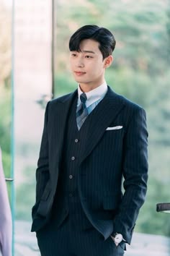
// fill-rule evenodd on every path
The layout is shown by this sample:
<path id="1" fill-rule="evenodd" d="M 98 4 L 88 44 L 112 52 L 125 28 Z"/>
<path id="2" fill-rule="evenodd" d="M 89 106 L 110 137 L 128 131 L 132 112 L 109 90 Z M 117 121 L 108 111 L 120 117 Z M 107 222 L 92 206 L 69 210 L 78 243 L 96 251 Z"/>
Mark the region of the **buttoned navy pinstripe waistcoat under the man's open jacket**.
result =
<path id="1" fill-rule="evenodd" d="M 69 215 L 74 216 L 71 218 L 73 229 L 76 229 L 76 226 L 78 229 L 91 227 L 91 223 L 86 218 L 84 210 L 81 207 L 78 192 L 79 166 L 77 165 L 77 159 L 81 153 L 81 145 L 84 145 L 84 140 L 86 140 L 86 130 L 88 130 L 89 120 L 88 117 L 79 131 L 76 125 L 75 99 L 68 115 L 61 161 L 62 165 L 54 202 L 55 223 L 57 223 L 57 226 L 61 225 L 69 213 Z M 74 155 L 75 159 L 72 160 Z M 64 209 L 63 212 L 61 209 Z"/>

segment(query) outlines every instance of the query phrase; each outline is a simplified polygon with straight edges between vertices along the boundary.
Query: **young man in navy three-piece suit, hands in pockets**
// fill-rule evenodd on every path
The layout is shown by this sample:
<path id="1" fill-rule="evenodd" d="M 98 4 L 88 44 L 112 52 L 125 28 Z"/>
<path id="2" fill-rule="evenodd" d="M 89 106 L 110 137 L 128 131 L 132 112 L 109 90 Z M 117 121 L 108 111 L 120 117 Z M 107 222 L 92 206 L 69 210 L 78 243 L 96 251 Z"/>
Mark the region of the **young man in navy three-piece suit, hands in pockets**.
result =
<path id="1" fill-rule="evenodd" d="M 109 30 L 81 27 L 69 48 L 78 90 L 45 111 L 32 231 L 42 256 L 123 255 L 146 196 L 146 114 L 104 80 Z"/>

